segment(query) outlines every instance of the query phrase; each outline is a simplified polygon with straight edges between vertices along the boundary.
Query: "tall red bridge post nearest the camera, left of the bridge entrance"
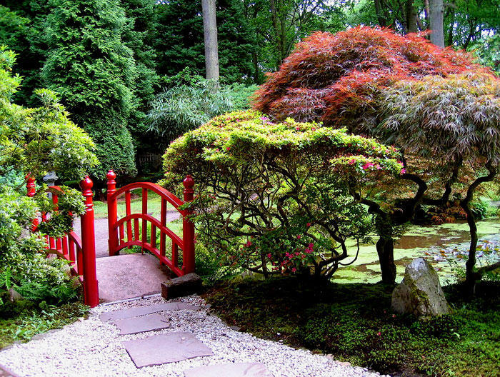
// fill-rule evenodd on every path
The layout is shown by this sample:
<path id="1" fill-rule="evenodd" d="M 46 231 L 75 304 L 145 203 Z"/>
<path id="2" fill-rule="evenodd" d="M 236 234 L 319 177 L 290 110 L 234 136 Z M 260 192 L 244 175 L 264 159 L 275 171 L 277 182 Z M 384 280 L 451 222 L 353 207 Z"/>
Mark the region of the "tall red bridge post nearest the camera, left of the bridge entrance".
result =
<path id="1" fill-rule="evenodd" d="M 84 301 L 91 308 L 99 305 L 99 283 L 96 275 L 96 238 L 94 232 L 94 203 L 89 176 L 80 182 L 85 198 L 85 213 L 81 216 L 81 250 L 84 253 Z M 79 266 L 80 269 L 80 266 Z"/>

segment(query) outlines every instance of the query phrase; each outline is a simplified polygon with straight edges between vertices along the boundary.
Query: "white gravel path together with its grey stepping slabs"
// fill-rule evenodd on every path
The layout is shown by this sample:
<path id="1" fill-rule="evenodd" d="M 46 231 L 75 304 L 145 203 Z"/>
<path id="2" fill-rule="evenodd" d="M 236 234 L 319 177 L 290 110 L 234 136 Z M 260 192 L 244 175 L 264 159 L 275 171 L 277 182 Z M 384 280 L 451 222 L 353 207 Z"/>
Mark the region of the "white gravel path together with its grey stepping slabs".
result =
<path id="1" fill-rule="evenodd" d="M 20 377 L 380 376 L 235 331 L 196 295 L 97 306 L 88 319 L 0 351 L 0 364 Z"/>

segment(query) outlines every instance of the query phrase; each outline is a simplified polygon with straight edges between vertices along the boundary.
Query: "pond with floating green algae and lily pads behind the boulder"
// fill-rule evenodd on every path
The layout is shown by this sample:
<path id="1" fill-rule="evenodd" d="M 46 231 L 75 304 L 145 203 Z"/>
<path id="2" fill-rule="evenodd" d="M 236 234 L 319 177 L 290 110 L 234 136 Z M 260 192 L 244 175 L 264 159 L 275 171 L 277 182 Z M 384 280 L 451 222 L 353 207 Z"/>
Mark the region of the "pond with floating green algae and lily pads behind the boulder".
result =
<path id="1" fill-rule="evenodd" d="M 476 266 L 500 260 L 500 218 L 488 218 L 477 223 L 478 251 Z M 464 268 L 469 251 L 467 223 L 445 223 L 433 226 L 409 226 L 404 236 L 394 244 L 396 282 L 404 276 L 404 268 L 414 258 L 424 257 L 439 273 L 441 284 L 456 281 L 455 269 Z M 356 249 L 352 247 L 351 254 Z M 349 258 L 348 262 L 352 259 Z M 375 245 L 360 246 L 357 260 L 350 266 L 339 267 L 332 279 L 336 283 L 380 281 L 379 257 Z"/>

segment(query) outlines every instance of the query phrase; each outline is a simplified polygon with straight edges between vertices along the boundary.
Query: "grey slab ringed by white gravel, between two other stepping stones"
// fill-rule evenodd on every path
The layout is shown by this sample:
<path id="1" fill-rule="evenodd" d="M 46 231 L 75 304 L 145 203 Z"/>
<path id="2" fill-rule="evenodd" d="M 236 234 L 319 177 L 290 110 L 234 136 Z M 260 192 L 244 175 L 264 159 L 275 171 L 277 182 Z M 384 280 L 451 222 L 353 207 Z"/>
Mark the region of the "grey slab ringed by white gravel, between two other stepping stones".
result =
<path id="1" fill-rule="evenodd" d="M 137 368 L 174 363 L 199 356 L 214 356 L 209 347 L 188 332 L 160 334 L 125 341 L 123 344 Z"/>

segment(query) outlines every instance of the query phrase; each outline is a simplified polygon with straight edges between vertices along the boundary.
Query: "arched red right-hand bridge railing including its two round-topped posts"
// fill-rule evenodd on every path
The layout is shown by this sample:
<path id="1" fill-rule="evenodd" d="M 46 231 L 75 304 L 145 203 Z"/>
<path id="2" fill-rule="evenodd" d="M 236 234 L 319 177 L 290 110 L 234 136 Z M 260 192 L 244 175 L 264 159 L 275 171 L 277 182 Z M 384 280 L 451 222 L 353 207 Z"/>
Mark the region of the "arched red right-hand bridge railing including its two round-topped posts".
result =
<path id="1" fill-rule="evenodd" d="M 116 189 L 116 174 L 110 170 L 108 179 L 108 232 L 109 256 L 115 256 L 123 248 L 141 246 L 154 254 L 161 264 L 166 265 L 177 276 L 194 272 L 194 223 L 189 220 L 189 209 L 179 209 L 193 200 L 194 181 L 191 176 L 184 179 L 184 201 L 165 188 L 149 182 L 136 182 Z M 132 213 L 132 193 L 141 190 L 141 212 Z M 148 213 L 149 192 L 161 198 L 159 218 Z M 125 216 L 118 218 L 118 198 L 124 196 Z M 167 227 L 168 204 L 182 216 L 182 238 Z M 159 235 L 159 241 L 157 241 Z M 168 243 L 169 242 L 169 243 Z"/>

